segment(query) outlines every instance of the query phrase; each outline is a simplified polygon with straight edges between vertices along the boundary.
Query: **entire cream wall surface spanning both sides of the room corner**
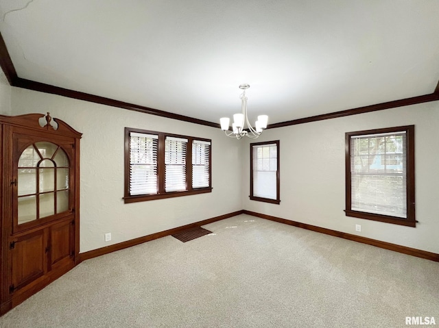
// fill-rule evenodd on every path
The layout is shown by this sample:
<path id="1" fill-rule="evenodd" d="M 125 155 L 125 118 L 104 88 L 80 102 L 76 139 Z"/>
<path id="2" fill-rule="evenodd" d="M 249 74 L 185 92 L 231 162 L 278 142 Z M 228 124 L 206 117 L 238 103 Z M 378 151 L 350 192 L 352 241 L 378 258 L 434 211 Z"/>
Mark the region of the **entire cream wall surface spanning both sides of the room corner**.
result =
<path id="1" fill-rule="evenodd" d="M 51 112 L 84 134 L 81 252 L 244 208 L 439 253 L 439 101 L 266 130 L 258 141 L 281 142 L 281 204 L 274 205 L 248 199 L 250 140 L 226 138 L 219 129 L 202 125 L 11 88 L 4 75 L 0 96 L 1 114 Z M 345 132 L 412 124 L 416 134 L 417 227 L 345 216 Z M 123 127 L 211 138 L 213 192 L 124 204 Z M 240 179 L 243 187 L 235 182 L 231 187 L 230 182 Z M 361 225 L 361 232 L 355 231 L 356 224 Z M 106 232 L 112 233 L 111 242 L 104 242 Z"/>

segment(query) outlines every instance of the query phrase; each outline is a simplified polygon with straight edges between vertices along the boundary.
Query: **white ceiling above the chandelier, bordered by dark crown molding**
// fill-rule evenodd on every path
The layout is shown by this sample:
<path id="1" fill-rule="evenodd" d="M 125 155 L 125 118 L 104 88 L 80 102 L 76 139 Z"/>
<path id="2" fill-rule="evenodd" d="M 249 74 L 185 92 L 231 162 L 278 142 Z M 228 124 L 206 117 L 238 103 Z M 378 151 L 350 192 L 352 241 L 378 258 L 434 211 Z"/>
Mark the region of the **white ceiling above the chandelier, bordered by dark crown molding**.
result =
<path id="1" fill-rule="evenodd" d="M 439 1 L 0 0 L 23 79 L 219 122 L 434 92 Z"/>

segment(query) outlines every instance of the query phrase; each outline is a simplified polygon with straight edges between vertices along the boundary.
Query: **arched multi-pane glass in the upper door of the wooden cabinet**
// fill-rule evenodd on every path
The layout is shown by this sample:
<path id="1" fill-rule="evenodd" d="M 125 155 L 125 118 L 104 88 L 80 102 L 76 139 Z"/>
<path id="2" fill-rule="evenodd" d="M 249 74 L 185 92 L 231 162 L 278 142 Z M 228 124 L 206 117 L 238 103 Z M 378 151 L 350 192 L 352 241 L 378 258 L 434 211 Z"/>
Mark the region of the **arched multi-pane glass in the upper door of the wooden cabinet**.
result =
<path id="1" fill-rule="evenodd" d="M 34 142 L 24 149 L 16 181 L 18 227 L 38 225 L 71 209 L 70 168 L 69 156 L 54 142 Z"/>

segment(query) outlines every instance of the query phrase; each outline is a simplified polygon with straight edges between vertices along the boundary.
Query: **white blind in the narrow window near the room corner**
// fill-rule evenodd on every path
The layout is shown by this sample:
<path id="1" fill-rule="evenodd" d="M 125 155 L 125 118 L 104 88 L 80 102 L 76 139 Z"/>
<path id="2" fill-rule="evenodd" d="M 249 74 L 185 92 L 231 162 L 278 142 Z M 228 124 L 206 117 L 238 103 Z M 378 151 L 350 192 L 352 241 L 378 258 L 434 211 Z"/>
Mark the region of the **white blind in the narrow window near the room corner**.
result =
<path id="1" fill-rule="evenodd" d="M 277 199 L 277 145 L 254 145 L 252 156 L 253 196 Z"/>

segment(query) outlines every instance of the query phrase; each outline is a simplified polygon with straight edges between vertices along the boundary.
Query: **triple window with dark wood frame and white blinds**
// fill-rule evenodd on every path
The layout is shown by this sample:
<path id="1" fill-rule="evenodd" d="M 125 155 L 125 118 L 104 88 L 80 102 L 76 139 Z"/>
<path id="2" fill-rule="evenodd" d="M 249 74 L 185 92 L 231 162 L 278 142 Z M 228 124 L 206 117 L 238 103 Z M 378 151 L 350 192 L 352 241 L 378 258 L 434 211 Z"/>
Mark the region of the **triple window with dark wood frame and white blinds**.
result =
<path id="1" fill-rule="evenodd" d="M 211 140 L 125 128 L 125 203 L 211 190 Z"/>

